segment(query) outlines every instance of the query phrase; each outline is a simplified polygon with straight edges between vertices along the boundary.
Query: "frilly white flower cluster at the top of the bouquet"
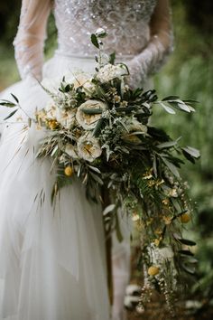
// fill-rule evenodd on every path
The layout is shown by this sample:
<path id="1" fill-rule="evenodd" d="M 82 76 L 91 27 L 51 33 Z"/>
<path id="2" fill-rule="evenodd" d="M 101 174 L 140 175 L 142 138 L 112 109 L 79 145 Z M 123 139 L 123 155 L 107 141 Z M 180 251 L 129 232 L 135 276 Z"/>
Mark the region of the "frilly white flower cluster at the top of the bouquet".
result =
<path id="1" fill-rule="evenodd" d="M 113 80 L 115 78 L 121 78 L 128 74 L 125 64 L 106 64 L 97 72 L 97 80 L 102 83 Z"/>

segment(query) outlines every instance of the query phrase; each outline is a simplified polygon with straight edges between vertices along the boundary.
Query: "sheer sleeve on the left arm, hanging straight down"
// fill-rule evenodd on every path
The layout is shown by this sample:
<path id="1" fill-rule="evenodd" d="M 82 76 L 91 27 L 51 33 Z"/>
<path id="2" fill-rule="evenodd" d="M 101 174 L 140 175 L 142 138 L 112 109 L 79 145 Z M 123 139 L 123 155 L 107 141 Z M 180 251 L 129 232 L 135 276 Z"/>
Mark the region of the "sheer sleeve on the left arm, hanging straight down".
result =
<path id="1" fill-rule="evenodd" d="M 14 39 L 15 60 L 22 79 L 41 80 L 43 43 L 51 0 L 23 0 L 18 32 Z"/>

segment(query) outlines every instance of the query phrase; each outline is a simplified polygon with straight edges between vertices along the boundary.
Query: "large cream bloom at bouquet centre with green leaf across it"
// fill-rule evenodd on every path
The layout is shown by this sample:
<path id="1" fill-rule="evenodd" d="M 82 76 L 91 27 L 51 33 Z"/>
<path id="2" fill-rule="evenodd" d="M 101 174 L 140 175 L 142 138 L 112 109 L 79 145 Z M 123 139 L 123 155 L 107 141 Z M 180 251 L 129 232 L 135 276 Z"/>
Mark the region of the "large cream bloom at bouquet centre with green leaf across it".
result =
<path id="1" fill-rule="evenodd" d="M 102 112 L 106 110 L 106 104 L 98 100 L 88 100 L 82 103 L 76 113 L 76 119 L 79 125 L 86 130 L 91 130 L 97 125 L 97 121 L 102 117 Z M 89 115 L 83 109 L 98 109 L 100 113 Z"/>

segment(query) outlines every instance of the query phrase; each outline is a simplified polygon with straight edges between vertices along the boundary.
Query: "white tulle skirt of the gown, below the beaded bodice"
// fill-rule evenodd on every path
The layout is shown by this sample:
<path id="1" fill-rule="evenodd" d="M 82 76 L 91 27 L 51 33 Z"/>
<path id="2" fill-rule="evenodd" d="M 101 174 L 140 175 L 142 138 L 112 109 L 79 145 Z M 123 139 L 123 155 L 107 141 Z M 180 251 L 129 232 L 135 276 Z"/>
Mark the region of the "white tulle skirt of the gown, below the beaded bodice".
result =
<path id="1" fill-rule="evenodd" d="M 44 65 L 43 77 L 94 68 L 91 59 L 56 54 Z M 10 99 L 11 92 L 30 116 L 49 99 L 35 80 L 16 83 L 0 98 Z M 21 122 L 6 125 L 1 137 L 0 319 L 109 320 L 101 205 L 88 202 L 84 187 L 73 179 L 53 210 L 55 175 L 49 160 L 36 158 L 41 137 Z M 120 248 L 117 243 L 117 252 Z"/>

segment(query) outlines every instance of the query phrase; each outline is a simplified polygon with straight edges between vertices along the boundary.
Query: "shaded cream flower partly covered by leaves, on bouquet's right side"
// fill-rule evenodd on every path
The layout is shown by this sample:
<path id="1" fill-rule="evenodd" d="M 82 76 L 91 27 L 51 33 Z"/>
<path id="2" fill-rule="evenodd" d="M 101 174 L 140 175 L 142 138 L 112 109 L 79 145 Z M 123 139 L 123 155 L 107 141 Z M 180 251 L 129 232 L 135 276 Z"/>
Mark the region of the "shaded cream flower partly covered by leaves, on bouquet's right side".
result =
<path id="1" fill-rule="evenodd" d="M 125 133 L 123 136 L 123 139 L 126 142 L 134 143 L 134 144 L 140 144 L 141 139 L 137 136 L 139 134 L 145 135 L 147 133 L 147 127 L 144 126 L 142 123 L 137 121 L 136 119 L 132 119 L 127 123 L 126 128 L 128 130 L 128 133 Z"/>

